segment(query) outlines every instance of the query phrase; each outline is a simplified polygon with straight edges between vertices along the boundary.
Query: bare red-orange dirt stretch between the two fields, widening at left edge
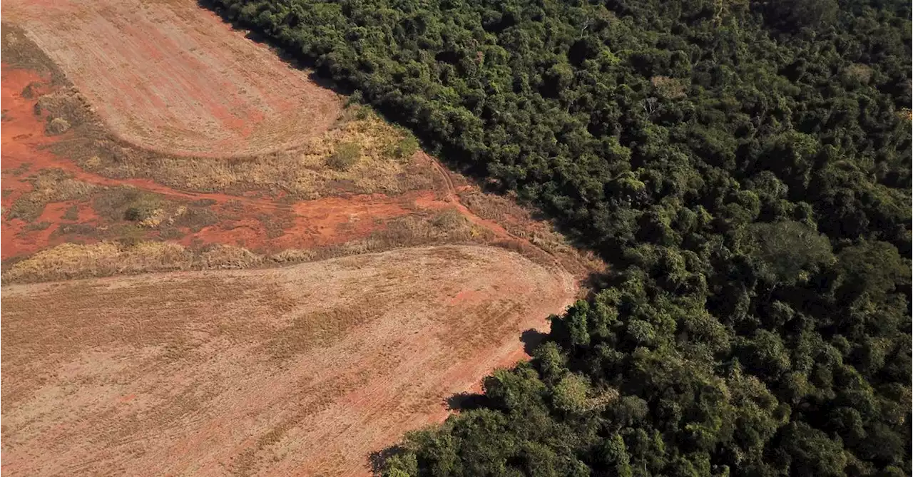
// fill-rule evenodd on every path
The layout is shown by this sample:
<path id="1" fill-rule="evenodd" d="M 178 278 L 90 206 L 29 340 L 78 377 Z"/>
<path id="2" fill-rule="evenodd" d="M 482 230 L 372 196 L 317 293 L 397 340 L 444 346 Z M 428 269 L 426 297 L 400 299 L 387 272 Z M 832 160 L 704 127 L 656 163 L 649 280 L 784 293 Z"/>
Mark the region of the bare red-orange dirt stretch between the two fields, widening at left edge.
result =
<path id="1" fill-rule="evenodd" d="M 52 88 L 47 81 L 37 73 L 0 64 L 0 216 L 6 215 L 0 222 L 0 260 L 68 242 L 119 239 L 124 233 L 139 239 L 162 238 L 162 227 L 138 226 L 118 216 L 100 217 L 94 210 L 101 196 L 124 186 L 158 202 L 168 202 L 173 208 L 204 203 L 214 217 L 203 227 L 179 224 L 170 231 L 172 235 L 163 238 L 187 245 L 232 244 L 268 252 L 341 244 L 383 229 L 383 220 L 448 205 L 431 191 L 287 203 L 250 195 L 176 191 L 149 180 L 115 180 L 88 173 L 51 151 L 58 138 L 47 136 L 47 120 L 35 114 L 37 99 L 22 95 L 29 85 Z M 88 184 L 90 191 L 69 198 L 55 196 L 55 183 L 44 188 L 37 185 L 36 177 L 55 171 L 65 175 L 65 181 Z M 16 215 L 17 202 L 25 201 L 29 192 L 47 196 L 43 198 L 46 205 L 39 207 L 34 217 Z M 71 207 L 76 208 L 75 214 L 64 218 Z"/>

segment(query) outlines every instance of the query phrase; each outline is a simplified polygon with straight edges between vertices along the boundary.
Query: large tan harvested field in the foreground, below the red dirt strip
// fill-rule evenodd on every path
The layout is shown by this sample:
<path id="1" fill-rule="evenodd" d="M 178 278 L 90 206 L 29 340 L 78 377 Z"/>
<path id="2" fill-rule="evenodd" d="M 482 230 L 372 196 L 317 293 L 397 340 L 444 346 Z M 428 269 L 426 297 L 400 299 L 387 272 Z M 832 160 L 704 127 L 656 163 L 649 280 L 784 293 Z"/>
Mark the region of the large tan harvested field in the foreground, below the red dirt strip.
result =
<path id="1" fill-rule="evenodd" d="M 366 475 L 574 295 L 471 245 L 0 288 L 0 474 Z"/>

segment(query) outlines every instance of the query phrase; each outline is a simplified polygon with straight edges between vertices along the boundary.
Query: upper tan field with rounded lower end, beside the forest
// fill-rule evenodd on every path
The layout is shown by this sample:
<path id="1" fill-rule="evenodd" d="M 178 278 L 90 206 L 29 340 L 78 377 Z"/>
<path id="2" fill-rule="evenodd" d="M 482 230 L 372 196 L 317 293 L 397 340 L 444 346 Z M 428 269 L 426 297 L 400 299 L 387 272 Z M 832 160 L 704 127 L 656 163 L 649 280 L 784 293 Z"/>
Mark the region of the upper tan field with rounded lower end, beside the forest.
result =
<path id="1" fill-rule="evenodd" d="M 147 150 L 249 156 L 331 127 L 341 101 L 194 0 L 0 0 L 110 130 Z M 5 41 L 0 38 L 0 41 Z"/>

